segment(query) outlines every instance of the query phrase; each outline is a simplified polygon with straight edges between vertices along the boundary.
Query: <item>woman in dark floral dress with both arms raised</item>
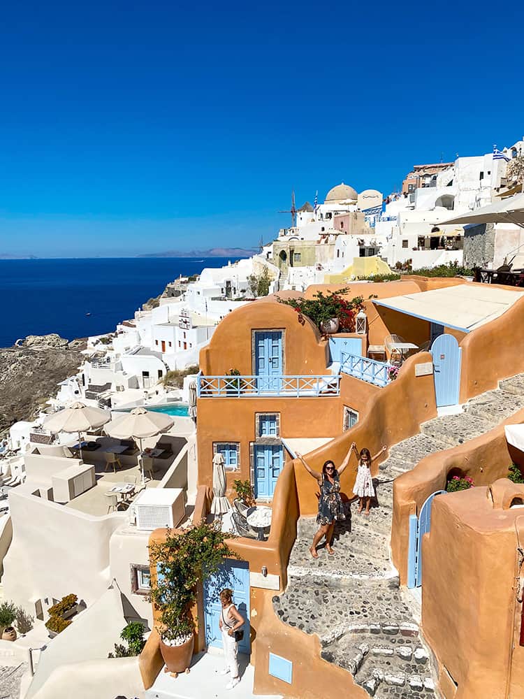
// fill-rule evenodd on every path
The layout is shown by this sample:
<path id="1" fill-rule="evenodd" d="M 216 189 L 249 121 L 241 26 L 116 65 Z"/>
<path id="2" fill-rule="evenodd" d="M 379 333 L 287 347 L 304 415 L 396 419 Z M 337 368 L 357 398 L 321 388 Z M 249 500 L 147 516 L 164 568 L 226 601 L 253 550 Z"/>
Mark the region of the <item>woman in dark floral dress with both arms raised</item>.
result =
<path id="1" fill-rule="evenodd" d="M 335 468 L 333 461 L 326 461 L 322 466 L 322 473 L 317 473 L 312 470 L 304 461 L 302 454 L 297 453 L 297 459 L 302 461 L 306 470 L 314 477 L 320 486 L 319 514 L 316 515 L 316 522 L 320 524 L 320 528 L 314 535 L 313 543 L 310 546 L 310 553 L 314 559 L 318 559 L 319 557 L 319 554 L 316 552 L 316 547 L 319 545 L 323 536 L 326 537 L 326 550 L 328 554 L 333 556 L 335 553 L 331 548 L 335 521 L 346 519 L 344 505 L 340 497 L 340 476 L 344 473 L 349 459 L 351 459 L 354 446 L 355 444 L 353 443 L 339 469 Z"/>

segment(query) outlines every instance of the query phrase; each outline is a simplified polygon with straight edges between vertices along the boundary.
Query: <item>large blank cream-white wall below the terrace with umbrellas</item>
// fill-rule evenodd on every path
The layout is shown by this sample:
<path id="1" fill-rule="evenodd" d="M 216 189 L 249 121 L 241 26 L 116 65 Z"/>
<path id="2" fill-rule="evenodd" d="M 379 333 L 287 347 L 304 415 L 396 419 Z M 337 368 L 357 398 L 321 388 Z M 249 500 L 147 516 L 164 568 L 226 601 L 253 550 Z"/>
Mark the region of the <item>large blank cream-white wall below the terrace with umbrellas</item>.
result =
<path id="1" fill-rule="evenodd" d="M 34 614 L 36 600 L 75 593 L 89 605 L 110 583 L 109 540 L 125 514 L 92 517 L 10 491 L 13 540 L 3 560 L 4 598 Z"/>

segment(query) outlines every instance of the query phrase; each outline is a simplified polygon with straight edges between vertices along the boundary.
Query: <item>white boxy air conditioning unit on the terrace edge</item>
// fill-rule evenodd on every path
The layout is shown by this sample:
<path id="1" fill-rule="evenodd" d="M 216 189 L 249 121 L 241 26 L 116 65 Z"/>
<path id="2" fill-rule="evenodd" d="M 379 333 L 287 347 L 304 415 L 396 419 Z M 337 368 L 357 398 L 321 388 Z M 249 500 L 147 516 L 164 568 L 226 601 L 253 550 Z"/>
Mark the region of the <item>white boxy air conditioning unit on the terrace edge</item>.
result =
<path id="1" fill-rule="evenodd" d="M 133 502 L 136 528 L 153 529 L 178 526 L 185 514 L 181 488 L 146 488 Z"/>

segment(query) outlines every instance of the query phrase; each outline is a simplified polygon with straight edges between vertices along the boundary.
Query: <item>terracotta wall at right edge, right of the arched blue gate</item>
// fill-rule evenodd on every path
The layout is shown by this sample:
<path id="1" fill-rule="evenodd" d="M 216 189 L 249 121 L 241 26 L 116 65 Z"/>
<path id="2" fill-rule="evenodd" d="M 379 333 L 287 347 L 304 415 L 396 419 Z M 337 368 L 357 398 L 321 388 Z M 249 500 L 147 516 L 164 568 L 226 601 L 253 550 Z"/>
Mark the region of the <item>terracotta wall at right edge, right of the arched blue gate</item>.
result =
<path id="1" fill-rule="evenodd" d="M 515 290 L 515 289 L 514 289 Z M 524 298 L 503 315 L 469 333 L 463 350 L 460 402 L 497 387 L 497 380 L 524 371 Z"/>

